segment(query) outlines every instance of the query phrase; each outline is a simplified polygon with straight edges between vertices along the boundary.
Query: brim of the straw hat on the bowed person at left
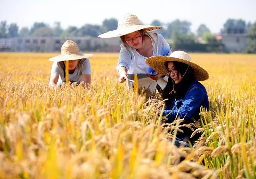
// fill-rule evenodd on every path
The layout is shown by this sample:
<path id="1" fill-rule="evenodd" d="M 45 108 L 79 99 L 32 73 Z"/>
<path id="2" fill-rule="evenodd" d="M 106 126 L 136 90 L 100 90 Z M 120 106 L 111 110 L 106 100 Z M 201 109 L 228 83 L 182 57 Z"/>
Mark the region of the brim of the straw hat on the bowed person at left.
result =
<path id="1" fill-rule="evenodd" d="M 51 62 L 61 62 L 61 61 L 69 61 L 69 60 L 79 60 L 83 58 L 92 57 L 92 54 L 83 54 L 82 52 L 78 52 L 75 54 L 68 54 L 68 55 L 58 55 L 54 56 L 49 59 Z"/>

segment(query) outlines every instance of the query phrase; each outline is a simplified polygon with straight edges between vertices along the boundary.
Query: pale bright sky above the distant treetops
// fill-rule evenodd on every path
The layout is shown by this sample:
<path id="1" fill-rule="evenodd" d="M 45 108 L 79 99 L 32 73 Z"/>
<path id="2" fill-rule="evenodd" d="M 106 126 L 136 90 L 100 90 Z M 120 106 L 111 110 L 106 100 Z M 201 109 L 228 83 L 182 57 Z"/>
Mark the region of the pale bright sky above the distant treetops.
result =
<path id="1" fill-rule="evenodd" d="M 101 25 L 104 19 L 119 20 L 131 13 L 143 24 L 154 19 L 163 23 L 180 19 L 192 23 L 192 32 L 205 24 L 218 33 L 228 18 L 255 22 L 255 8 L 256 0 L 0 0 L 0 21 L 17 23 L 19 28 L 31 27 L 34 22 L 53 26 L 60 21 L 62 28 L 67 28 Z"/>

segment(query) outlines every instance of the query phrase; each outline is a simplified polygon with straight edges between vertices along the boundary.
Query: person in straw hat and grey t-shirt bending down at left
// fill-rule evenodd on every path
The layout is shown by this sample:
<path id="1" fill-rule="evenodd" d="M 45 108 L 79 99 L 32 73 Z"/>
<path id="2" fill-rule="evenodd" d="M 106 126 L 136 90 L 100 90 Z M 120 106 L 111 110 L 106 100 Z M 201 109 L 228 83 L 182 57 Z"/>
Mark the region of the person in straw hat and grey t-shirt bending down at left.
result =
<path id="1" fill-rule="evenodd" d="M 91 63 L 89 57 L 92 54 L 83 54 L 79 51 L 74 41 L 67 40 L 61 47 L 61 55 L 49 59 L 53 62 L 49 85 L 56 89 L 56 85 L 65 84 L 66 76 L 71 82 L 85 84 L 91 83 Z M 68 61 L 68 74 L 65 71 L 65 61 Z"/>

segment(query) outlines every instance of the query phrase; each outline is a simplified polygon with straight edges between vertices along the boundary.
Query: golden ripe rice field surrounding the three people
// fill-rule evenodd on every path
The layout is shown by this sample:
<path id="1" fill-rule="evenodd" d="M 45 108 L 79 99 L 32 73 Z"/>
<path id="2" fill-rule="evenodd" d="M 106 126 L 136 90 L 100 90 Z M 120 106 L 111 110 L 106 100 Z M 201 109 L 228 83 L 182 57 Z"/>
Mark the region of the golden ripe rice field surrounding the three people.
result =
<path id="1" fill-rule="evenodd" d="M 90 58 L 89 89 L 56 91 L 55 55 L 0 53 L 0 179 L 256 178 L 256 55 L 190 54 L 210 75 L 191 148 L 170 142 L 157 94 L 118 83 L 118 54 Z"/>

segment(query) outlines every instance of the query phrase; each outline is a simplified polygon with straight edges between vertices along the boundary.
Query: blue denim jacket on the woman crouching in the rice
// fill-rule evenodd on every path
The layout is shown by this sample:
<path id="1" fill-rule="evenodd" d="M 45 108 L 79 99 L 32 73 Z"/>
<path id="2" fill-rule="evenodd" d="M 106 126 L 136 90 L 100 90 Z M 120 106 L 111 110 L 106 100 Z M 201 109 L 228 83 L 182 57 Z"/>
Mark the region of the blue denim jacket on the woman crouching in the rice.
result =
<path id="1" fill-rule="evenodd" d="M 209 109 L 209 99 L 206 89 L 204 85 L 199 83 L 196 79 L 194 79 L 189 86 L 188 91 L 183 99 L 173 99 L 172 103 L 169 104 L 170 105 L 166 106 L 163 113 L 163 116 L 166 116 L 170 113 L 167 116 L 168 120 L 165 123 L 172 123 L 176 116 L 180 116 L 180 119 L 184 119 L 184 122 L 180 124 L 194 123 L 194 120 L 197 121 L 200 118 L 200 106 L 206 108 L 207 110 Z M 193 132 L 187 127 L 184 127 L 181 130 L 184 132 L 177 133 L 176 137 L 178 139 L 183 139 L 186 137 L 190 138 L 190 135 Z"/>

